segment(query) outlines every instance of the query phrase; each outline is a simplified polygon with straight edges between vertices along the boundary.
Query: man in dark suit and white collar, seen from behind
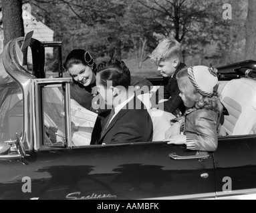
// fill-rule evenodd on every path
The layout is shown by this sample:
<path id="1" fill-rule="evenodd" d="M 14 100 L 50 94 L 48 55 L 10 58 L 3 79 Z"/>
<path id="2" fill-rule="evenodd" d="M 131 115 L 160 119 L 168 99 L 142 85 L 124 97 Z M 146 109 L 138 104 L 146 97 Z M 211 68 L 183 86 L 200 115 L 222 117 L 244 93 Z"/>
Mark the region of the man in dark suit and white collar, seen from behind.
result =
<path id="1" fill-rule="evenodd" d="M 96 85 L 106 105 L 113 106 L 97 144 L 152 141 L 152 120 L 134 90 L 129 88 L 130 71 L 124 62 L 114 60 L 100 64 Z"/>

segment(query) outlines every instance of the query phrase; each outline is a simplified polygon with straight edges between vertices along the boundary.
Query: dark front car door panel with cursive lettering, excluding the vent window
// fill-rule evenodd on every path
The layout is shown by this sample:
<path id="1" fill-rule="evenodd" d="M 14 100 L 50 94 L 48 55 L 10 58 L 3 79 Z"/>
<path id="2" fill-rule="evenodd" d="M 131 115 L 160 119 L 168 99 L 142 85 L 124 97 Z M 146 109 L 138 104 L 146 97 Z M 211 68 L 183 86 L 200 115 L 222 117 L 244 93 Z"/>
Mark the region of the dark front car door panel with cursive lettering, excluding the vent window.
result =
<path id="1" fill-rule="evenodd" d="M 213 156 L 195 154 L 164 142 L 43 148 L 0 160 L 0 198 L 214 198 Z"/>

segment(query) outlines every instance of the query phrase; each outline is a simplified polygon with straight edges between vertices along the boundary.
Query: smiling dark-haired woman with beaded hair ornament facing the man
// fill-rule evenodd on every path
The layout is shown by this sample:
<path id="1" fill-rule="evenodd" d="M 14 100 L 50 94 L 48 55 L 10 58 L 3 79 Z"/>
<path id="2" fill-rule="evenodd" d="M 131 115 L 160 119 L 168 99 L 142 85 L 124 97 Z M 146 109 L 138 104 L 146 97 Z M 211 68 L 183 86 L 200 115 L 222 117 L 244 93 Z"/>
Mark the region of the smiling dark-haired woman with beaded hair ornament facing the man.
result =
<path id="1" fill-rule="evenodd" d="M 96 86 L 96 63 L 88 51 L 83 49 L 74 49 L 68 54 L 64 63 L 64 69 L 68 71 L 73 78 L 71 85 L 71 99 L 74 99 L 82 107 L 92 110 L 102 116 L 106 116 L 110 110 L 104 110 L 105 106 L 98 109 L 92 107 L 93 99 L 97 95 Z M 67 75 L 66 75 L 67 77 Z M 140 89 L 144 86 L 150 87 L 150 81 L 138 77 L 131 77 L 130 85 Z M 150 91 L 150 89 L 149 89 Z"/>

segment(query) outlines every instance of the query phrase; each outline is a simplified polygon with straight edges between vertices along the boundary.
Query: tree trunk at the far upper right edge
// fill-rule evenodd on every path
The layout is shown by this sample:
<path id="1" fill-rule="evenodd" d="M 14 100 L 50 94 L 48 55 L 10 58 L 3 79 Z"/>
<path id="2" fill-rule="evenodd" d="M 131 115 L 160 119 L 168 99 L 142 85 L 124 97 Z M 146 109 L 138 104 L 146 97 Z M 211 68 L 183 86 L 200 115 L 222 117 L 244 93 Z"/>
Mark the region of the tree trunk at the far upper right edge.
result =
<path id="1" fill-rule="evenodd" d="M 246 22 L 245 60 L 256 59 L 256 1 L 249 0 Z"/>

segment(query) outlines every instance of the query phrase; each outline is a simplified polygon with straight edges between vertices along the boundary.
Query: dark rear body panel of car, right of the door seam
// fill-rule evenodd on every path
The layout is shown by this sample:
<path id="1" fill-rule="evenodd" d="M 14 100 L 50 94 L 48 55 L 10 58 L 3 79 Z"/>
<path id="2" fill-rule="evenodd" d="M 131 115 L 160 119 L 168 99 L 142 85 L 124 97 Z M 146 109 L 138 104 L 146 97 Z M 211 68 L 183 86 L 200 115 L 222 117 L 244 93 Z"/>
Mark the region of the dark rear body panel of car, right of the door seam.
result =
<path id="1" fill-rule="evenodd" d="M 255 135 L 219 138 L 214 153 L 217 198 L 256 198 L 255 142 Z"/>

